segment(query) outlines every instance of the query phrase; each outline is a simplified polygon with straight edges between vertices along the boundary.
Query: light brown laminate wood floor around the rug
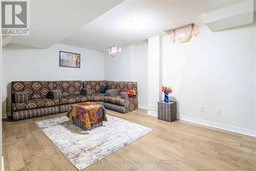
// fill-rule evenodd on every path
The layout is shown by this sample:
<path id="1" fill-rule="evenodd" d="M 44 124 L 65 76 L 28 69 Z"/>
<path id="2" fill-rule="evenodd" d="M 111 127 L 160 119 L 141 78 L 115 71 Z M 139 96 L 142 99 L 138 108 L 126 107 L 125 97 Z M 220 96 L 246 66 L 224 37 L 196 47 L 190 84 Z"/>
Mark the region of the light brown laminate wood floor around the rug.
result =
<path id="1" fill-rule="evenodd" d="M 155 130 L 83 170 L 256 170 L 253 137 L 181 120 L 161 121 L 144 109 L 107 112 Z M 77 170 L 34 123 L 65 114 L 5 119 L 5 170 Z"/>

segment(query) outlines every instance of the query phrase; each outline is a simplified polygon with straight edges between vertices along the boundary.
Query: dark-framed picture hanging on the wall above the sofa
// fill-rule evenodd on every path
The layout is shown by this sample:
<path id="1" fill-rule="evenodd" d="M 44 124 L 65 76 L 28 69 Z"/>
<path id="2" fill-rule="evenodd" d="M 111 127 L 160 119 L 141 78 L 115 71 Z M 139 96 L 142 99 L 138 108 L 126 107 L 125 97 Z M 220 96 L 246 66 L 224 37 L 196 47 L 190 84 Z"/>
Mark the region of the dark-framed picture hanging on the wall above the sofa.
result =
<path id="1" fill-rule="evenodd" d="M 59 51 L 59 66 L 60 67 L 72 67 L 80 68 L 80 54 Z"/>

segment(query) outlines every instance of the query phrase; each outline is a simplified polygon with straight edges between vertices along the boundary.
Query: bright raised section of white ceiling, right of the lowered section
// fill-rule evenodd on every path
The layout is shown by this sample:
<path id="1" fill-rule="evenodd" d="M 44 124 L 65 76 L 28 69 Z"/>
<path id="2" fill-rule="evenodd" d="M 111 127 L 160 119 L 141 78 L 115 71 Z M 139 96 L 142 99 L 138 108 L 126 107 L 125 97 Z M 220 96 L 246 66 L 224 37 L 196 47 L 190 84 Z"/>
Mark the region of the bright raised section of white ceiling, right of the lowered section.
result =
<path id="1" fill-rule="evenodd" d="M 111 46 L 140 44 L 164 30 L 195 23 L 204 26 L 206 12 L 242 2 L 225 1 L 124 1 L 60 43 L 104 51 Z M 131 20 L 146 25 L 134 29 Z"/>

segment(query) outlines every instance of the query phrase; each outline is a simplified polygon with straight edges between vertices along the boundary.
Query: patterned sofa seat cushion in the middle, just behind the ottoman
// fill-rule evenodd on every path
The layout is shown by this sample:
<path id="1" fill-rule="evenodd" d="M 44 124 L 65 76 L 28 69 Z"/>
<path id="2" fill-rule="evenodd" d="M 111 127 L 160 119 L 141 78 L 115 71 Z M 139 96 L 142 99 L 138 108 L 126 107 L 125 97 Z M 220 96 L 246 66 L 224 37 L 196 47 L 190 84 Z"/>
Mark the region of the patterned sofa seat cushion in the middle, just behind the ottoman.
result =
<path id="1" fill-rule="evenodd" d="M 89 96 L 84 96 L 83 94 L 75 94 L 75 95 L 70 95 L 70 96 L 63 96 L 60 99 L 60 105 L 79 103 L 79 102 L 87 102 L 90 100 L 91 100 L 91 97 L 89 97 Z"/>

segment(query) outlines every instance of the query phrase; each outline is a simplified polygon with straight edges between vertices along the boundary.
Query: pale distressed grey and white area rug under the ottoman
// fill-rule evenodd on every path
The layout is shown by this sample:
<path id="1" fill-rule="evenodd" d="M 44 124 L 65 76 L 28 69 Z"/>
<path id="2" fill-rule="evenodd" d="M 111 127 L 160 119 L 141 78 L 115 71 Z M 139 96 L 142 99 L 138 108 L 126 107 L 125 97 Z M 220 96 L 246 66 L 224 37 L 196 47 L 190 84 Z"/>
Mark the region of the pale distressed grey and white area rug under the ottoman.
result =
<path id="1" fill-rule="evenodd" d="M 78 169 L 109 156 L 153 129 L 106 115 L 103 126 L 83 132 L 66 116 L 35 122 L 44 134 Z"/>

